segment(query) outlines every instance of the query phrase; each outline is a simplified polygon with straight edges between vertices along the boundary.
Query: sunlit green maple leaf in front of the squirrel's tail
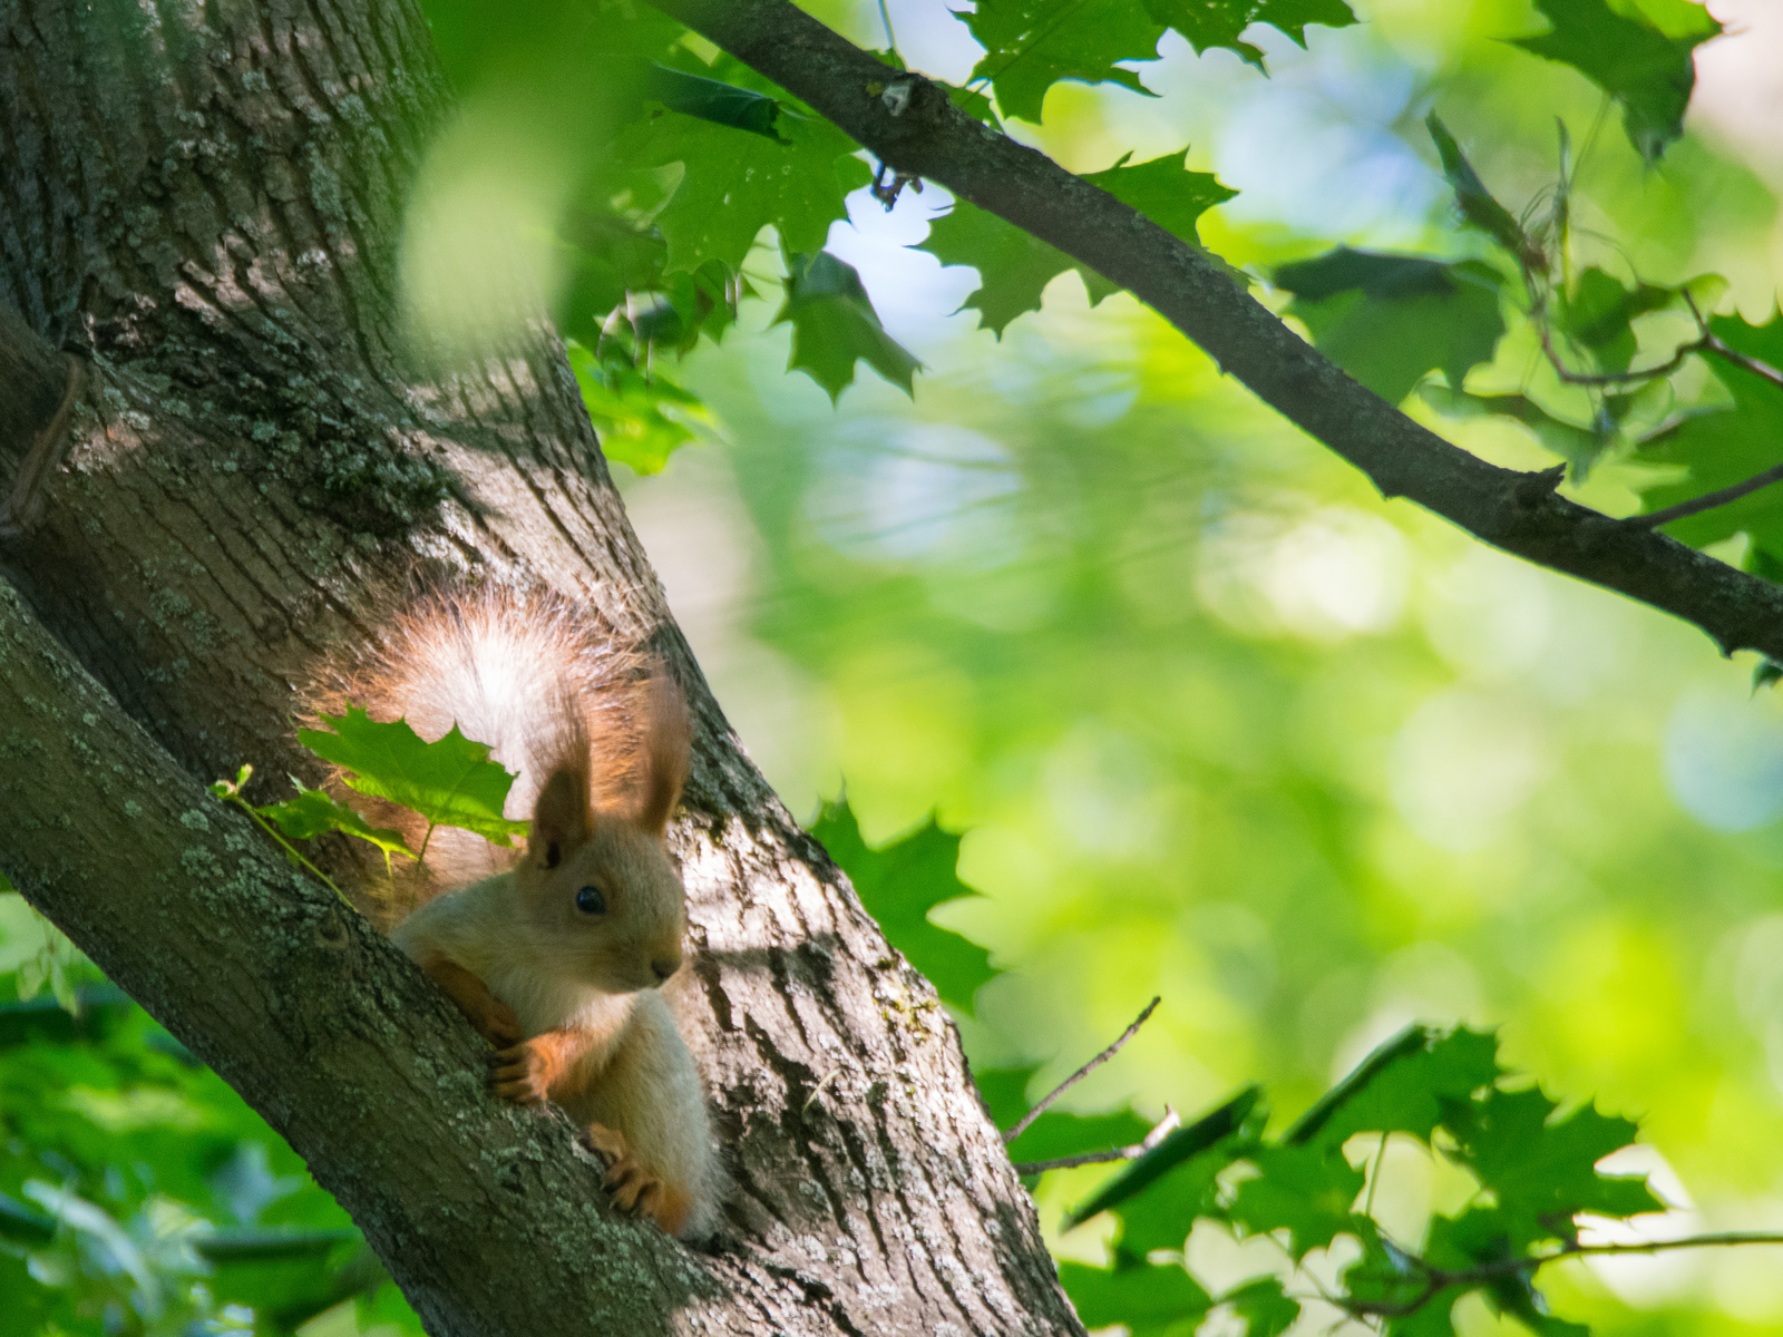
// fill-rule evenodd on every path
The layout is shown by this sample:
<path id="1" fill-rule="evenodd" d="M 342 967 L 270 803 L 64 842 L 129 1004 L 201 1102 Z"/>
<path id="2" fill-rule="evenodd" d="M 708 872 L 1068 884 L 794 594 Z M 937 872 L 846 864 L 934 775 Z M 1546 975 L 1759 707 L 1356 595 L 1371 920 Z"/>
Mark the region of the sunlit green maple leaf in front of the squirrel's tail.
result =
<path id="1" fill-rule="evenodd" d="M 476 833 L 492 845 L 510 845 L 510 836 L 526 834 L 526 822 L 501 815 L 514 775 L 489 759 L 487 743 L 472 743 L 456 724 L 439 742 L 426 743 L 408 720 L 378 724 L 358 706 L 346 715 L 323 715 L 323 722 L 333 733 L 298 729 L 298 742 L 353 772 L 348 788 L 401 804 L 433 825 Z"/>

